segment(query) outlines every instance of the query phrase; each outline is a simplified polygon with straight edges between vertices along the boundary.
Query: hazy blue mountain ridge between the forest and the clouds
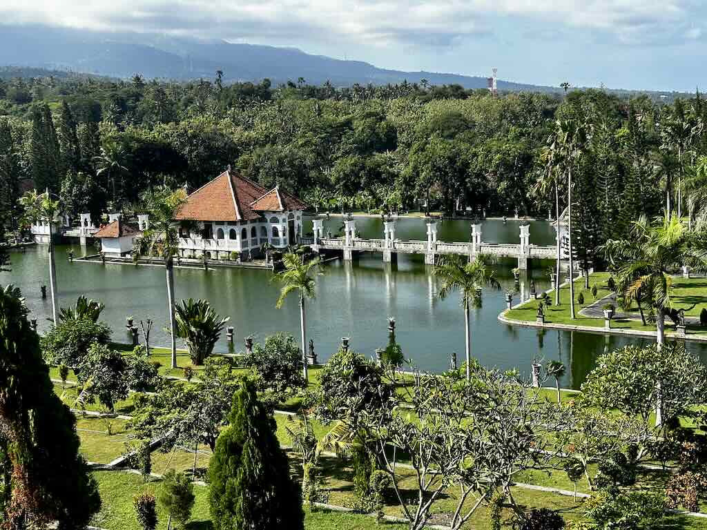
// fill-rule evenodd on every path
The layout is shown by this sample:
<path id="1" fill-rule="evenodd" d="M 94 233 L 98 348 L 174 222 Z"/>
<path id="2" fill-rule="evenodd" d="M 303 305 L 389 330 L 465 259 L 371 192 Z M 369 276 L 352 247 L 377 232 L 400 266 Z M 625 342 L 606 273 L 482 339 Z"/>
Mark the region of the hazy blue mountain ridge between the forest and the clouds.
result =
<path id="1" fill-rule="evenodd" d="M 310 55 L 296 48 L 230 43 L 223 40 L 173 38 L 138 33 L 100 33 L 47 26 L 0 25 L 0 65 L 40 66 L 126 78 L 141 73 L 148 78 L 186 80 L 212 79 L 223 71 L 224 81 L 273 83 L 297 81 L 334 86 L 354 83 L 458 83 L 464 88 L 486 88 L 486 76 L 454 73 L 406 72 L 376 68 L 362 61 Z M 479 72 L 491 70 L 479 64 Z M 559 88 L 498 81 L 499 90 L 539 90 Z"/>

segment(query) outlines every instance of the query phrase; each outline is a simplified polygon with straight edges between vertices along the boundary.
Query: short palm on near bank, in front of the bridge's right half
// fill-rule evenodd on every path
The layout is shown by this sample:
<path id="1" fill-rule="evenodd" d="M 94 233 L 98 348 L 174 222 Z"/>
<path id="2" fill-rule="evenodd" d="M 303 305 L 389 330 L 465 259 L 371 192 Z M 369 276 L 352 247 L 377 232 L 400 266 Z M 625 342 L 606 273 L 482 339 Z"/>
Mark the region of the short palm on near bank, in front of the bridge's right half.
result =
<path id="1" fill-rule="evenodd" d="M 434 273 L 442 280 L 438 296 L 447 298 L 452 290 L 459 290 L 464 308 L 464 341 L 466 344 L 467 381 L 471 379 L 472 340 L 469 329 L 469 307 L 481 306 L 481 288 L 500 289 L 501 284 L 496 275 L 489 269 L 484 256 L 477 256 L 474 261 L 464 264 L 456 255 L 444 256 L 435 266 Z"/>

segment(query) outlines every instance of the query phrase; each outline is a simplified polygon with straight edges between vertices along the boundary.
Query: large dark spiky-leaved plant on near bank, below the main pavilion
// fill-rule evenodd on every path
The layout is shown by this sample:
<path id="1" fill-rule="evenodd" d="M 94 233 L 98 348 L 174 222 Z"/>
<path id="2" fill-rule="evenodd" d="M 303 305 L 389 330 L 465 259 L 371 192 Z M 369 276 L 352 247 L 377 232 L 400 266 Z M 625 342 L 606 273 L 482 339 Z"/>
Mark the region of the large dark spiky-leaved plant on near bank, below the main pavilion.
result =
<path id="1" fill-rule="evenodd" d="M 228 317 L 221 317 L 206 300 L 182 300 L 175 307 L 177 336 L 189 348 L 194 365 L 203 365 L 221 336 Z"/>

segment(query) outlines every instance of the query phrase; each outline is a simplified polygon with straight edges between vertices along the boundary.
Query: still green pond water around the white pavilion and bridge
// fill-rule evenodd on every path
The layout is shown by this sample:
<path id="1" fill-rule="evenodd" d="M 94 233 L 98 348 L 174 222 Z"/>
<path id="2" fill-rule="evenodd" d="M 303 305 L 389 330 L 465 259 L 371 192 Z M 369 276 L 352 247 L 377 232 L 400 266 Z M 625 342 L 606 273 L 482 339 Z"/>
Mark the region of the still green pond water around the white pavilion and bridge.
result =
<path id="1" fill-rule="evenodd" d="M 334 218 L 329 223 L 339 223 Z M 366 219 L 359 229 L 373 227 L 380 219 Z M 456 223 L 456 224 L 455 224 Z M 399 229 L 409 230 L 409 235 L 398 232 L 397 237 L 422 238 L 425 229 L 422 220 L 400 220 Z M 536 223 L 534 235 L 551 237 L 547 223 Z M 499 242 L 491 236 L 507 237 L 517 225 L 511 221 L 503 225 L 491 223 L 484 231 L 484 240 Z M 445 230 L 453 236 L 466 233 L 468 224 L 445 221 Z M 496 230 L 496 232 L 493 232 Z M 381 230 L 382 233 L 382 230 Z M 441 231 L 440 231 L 441 233 Z M 506 233 L 506 236 L 503 234 Z M 486 237 L 489 234 L 489 237 Z M 543 235 L 544 234 L 544 235 Z M 362 234 L 363 235 L 363 234 Z M 373 235 L 373 234 L 372 234 Z M 373 235 L 380 237 L 379 235 Z M 444 238 L 447 238 L 445 236 Z M 440 240 L 443 237 L 440 236 Z M 464 240 L 461 237 L 448 240 Z M 467 239 L 468 240 L 468 236 Z M 57 275 L 60 305 L 66 307 L 80 294 L 100 300 L 106 305 L 102 319 L 114 331 L 117 341 L 129 341 L 125 317 L 133 315 L 136 321 L 151 318 L 155 321 L 152 342 L 168 344 L 165 334 L 167 319 L 165 272 L 158 266 L 132 266 L 115 264 L 70 264 L 66 259 L 69 247 L 57 247 Z M 80 247 L 74 247 L 76 255 Z M 49 300 L 40 297 L 40 285 L 48 283 L 47 249 L 34 247 L 26 253 L 12 254 L 13 271 L 0 273 L 0 284 L 15 283 L 27 300 L 33 317 L 46 329 L 50 314 Z M 550 262 L 534 262 L 534 269 L 522 273 L 520 290 L 527 293 L 527 284 L 533 278 L 537 289 L 549 288 L 545 271 Z M 557 359 L 568 366 L 562 384 L 578 387 L 592 369 L 595 358 L 606 348 L 617 348 L 627 343 L 647 343 L 621 336 L 583 334 L 569 331 L 522 328 L 501 324 L 496 319 L 506 305 L 504 293 L 513 288 L 510 269 L 515 260 L 502 260 L 494 267 L 502 288 L 485 290 L 483 306 L 474 310 L 472 320 L 472 355 L 481 363 L 501 369 L 518 367 L 527 373 L 534 359 Z M 253 335 L 258 339 L 276 331 L 297 335 L 299 312 L 296 297 L 288 299 L 281 310 L 275 308 L 279 286 L 271 283 L 269 271 L 252 269 L 177 269 L 175 285 L 177 299 L 206 298 L 216 311 L 231 317 L 236 338 Z M 325 275 L 317 277 L 317 298 L 308 302 L 308 333 L 315 341 L 321 360 L 336 351 L 342 336 L 351 337 L 351 346 L 361 353 L 373 355 L 375 348 L 387 342 L 387 317 L 395 317 L 397 340 L 407 358 L 423 370 L 445 370 L 450 354 L 464 355 L 464 320 L 459 297 L 452 293 L 445 300 L 437 296 L 438 280 L 431 274 L 430 266 L 422 256 L 400 255 L 397 263 L 382 263 L 380 254 L 362 254 L 353 262 L 332 261 L 327 264 Z M 518 299 L 518 297 L 516 297 Z M 235 349 L 242 349 L 240 339 Z M 689 343 L 691 351 L 707 359 L 707 348 Z M 217 351 L 228 351 L 225 336 L 219 341 Z"/>

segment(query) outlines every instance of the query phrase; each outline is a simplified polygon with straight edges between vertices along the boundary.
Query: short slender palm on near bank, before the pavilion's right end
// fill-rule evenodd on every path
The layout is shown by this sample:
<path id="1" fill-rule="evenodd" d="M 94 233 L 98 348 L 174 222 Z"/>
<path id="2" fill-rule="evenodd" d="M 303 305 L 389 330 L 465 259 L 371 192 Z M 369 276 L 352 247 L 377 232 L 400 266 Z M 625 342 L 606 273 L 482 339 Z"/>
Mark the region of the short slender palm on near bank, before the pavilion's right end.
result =
<path id="1" fill-rule="evenodd" d="M 280 297 L 277 299 L 275 307 L 280 309 L 285 302 L 287 295 L 293 291 L 298 291 L 300 295 L 300 335 L 302 338 L 302 363 L 305 381 L 307 381 L 307 337 L 305 326 L 305 298 L 315 298 L 315 279 L 313 274 L 321 275 L 321 261 L 319 258 L 305 261 L 300 254 L 285 254 L 282 259 L 285 270 L 274 276 L 274 281 L 282 284 Z"/>

